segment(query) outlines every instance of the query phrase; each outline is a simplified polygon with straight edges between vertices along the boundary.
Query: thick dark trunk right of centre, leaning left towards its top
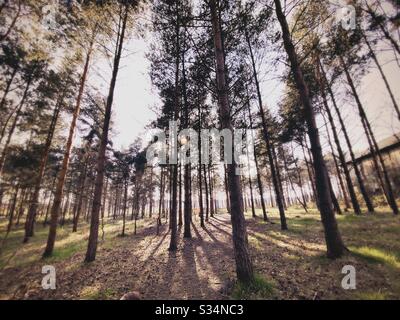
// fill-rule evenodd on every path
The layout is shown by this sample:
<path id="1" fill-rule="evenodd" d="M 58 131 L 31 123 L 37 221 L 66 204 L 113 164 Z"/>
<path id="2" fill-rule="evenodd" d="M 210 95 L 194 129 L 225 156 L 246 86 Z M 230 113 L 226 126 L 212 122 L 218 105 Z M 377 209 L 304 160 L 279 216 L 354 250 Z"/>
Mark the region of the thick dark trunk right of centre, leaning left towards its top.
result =
<path id="1" fill-rule="evenodd" d="M 345 246 L 343 244 L 339 228 L 337 226 L 335 213 L 332 208 L 332 198 L 328 172 L 322 155 L 321 142 L 319 139 L 318 127 L 315 121 L 313 107 L 311 105 L 308 86 L 304 80 L 301 66 L 295 47 L 290 37 L 289 27 L 286 17 L 282 11 L 280 0 L 274 0 L 276 15 L 282 28 L 282 37 L 285 50 L 288 54 L 292 73 L 295 79 L 297 89 L 304 108 L 304 114 L 307 122 L 308 135 L 311 142 L 311 151 L 313 155 L 313 165 L 316 174 L 316 187 L 321 220 L 325 231 L 325 240 L 327 245 L 327 255 L 329 258 L 339 258 L 343 255 Z"/>

